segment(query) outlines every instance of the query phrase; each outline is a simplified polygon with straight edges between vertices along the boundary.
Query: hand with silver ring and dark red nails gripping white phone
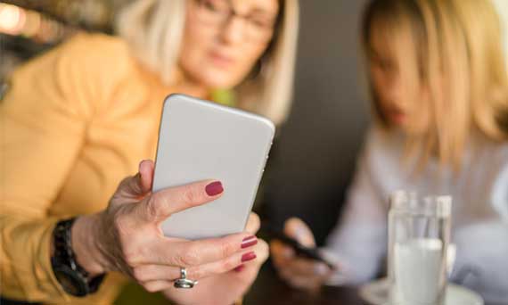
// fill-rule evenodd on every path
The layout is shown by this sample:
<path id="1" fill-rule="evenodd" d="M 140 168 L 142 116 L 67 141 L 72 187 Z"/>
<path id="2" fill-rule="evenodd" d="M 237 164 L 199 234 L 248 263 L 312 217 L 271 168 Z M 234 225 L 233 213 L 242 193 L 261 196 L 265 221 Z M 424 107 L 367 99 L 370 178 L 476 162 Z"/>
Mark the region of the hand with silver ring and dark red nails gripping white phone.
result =
<path id="1" fill-rule="evenodd" d="M 171 286 L 180 277 L 180 268 L 198 280 L 255 258 L 258 240 L 249 233 L 200 241 L 164 236 L 162 221 L 217 199 L 223 189 L 219 182 L 202 181 L 152 194 L 152 177 L 153 162 L 141 162 L 139 173 L 120 183 L 106 210 L 76 220 L 72 246 L 78 263 L 91 276 L 119 271 L 156 292 Z"/>

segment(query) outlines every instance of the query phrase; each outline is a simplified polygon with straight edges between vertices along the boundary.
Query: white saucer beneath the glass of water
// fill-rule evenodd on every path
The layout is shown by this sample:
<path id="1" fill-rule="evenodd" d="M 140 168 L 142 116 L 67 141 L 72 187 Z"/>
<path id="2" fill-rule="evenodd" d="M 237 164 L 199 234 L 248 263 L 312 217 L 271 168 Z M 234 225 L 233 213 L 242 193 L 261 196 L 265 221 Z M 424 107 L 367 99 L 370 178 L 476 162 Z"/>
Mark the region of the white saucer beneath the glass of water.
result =
<path id="1" fill-rule="evenodd" d="M 387 278 L 373 281 L 360 288 L 360 296 L 364 301 L 373 305 L 389 304 L 389 282 Z M 458 286 L 448 284 L 446 305 L 483 305 L 483 300 L 477 293 Z"/>

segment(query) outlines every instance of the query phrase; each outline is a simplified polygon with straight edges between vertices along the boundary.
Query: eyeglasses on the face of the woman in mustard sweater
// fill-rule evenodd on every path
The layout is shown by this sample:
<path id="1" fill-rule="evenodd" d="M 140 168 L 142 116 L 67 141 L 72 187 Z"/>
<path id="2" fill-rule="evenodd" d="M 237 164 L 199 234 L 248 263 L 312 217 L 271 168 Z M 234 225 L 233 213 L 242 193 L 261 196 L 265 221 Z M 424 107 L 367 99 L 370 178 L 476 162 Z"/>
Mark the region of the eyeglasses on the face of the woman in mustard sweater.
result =
<path id="1" fill-rule="evenodd" d="M 263 14 L 242 15 L 235 12 L 230 0 L 194 0 L 197 19 L 209 26 L 225 27 L 234 17 L 245 21 L 245 38 L 250 41 L 267 41 L 274 34 L 276 18 Z"/>

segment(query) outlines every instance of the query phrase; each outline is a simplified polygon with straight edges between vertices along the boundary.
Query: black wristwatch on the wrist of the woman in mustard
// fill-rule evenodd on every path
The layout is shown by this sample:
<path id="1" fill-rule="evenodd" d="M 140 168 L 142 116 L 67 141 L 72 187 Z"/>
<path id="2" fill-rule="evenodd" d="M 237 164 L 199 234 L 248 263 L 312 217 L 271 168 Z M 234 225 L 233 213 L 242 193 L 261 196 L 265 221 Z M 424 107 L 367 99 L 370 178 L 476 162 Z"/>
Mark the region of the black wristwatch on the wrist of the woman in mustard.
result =
<path id="1" fill-rule="evenodd" d="M 84 297 L 95 293 L 102 284 L 104 274 L 89 278 L 88 272 L 78 265 L 72 251 L 70 229 L 76 218 L 61 220 L 53 230 L 54 253 L 51 258 L 54 276 L 66 293 Z"/>

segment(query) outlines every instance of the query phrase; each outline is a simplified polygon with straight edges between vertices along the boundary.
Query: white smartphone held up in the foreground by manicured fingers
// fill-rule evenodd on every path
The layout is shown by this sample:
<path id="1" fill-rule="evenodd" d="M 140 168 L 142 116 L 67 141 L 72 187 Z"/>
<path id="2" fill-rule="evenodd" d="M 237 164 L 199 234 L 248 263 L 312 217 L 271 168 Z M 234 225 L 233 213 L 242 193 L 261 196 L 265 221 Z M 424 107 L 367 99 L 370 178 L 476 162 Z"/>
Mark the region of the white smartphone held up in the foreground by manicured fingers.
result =
<path id="1" fill-rule="evenodd" d="M 258 115 L 186 95 L 169 95 L 160 120 L 152 191 L 217 179 L 225 193 L 166 219 L 164 235 L 195 240 L 242 232 L 274 130 L 270 120 Z"/>

